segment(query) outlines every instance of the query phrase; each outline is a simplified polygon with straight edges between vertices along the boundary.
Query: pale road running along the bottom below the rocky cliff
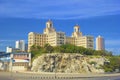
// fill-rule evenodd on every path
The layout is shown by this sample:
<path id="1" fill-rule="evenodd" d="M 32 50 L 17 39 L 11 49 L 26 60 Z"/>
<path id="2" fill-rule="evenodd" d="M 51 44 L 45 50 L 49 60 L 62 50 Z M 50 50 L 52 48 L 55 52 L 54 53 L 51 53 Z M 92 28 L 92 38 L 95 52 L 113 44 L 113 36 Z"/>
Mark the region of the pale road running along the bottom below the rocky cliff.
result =
<path id="1" fill-rule="evenodd" d="M 108 74 L 109 75 L 109 74 Z M 11 73 L 0 72 L 0 80 L 120 80 L 120 76 L 93 76 L 81 74 L 50 74 L 50 73 Z"/>

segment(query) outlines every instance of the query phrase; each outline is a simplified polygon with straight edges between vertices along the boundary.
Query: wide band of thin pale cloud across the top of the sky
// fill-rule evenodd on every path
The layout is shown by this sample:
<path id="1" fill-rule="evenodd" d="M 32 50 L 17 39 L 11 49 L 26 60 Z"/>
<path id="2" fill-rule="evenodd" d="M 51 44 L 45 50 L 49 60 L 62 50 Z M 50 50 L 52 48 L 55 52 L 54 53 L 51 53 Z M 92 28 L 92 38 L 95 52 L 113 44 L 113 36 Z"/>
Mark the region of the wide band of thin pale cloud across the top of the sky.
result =
<path id="1" fill-rule="evenodd" d="M 87 18 L 120 14 L 119 0 L 1 0 L 0 16 L 23 18 Z"/>

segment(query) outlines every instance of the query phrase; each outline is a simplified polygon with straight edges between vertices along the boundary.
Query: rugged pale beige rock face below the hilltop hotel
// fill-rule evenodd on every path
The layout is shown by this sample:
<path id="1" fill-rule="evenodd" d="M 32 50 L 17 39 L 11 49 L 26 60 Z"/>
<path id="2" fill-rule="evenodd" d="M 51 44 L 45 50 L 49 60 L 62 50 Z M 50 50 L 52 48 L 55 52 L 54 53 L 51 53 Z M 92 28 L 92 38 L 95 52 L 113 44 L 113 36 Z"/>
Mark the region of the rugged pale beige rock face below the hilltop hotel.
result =
<path id="1" fill-rule="evenodd" d="M 104 57 L 87 57 L 80 54 L 43 54 L 34 59 L 31 70 L 34 72 L 58 73 L 104 73 Z"/>

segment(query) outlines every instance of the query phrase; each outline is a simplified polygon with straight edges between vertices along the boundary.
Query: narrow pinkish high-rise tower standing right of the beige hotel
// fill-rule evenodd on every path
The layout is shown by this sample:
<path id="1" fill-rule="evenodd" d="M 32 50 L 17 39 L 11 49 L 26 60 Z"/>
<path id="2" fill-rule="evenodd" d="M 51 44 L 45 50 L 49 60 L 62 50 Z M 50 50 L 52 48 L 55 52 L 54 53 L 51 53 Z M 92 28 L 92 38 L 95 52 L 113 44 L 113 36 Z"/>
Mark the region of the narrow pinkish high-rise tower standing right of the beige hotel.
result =
<path id="1" fill-rule="evenodd" d="M 105 50 L 104 38 L 101 36 L 96 38 L 96 50 Z"/>

